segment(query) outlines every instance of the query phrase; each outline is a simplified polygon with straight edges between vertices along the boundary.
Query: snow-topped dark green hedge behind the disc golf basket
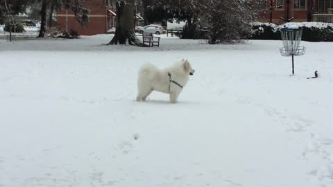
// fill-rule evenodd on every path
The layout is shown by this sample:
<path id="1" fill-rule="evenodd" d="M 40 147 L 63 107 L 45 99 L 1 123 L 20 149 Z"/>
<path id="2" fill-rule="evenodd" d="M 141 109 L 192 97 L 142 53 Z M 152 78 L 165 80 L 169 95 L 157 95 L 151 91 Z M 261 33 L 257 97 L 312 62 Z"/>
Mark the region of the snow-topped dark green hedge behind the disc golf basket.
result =
<path id="1" fill-rule="evenodd" d="M 280 29 L 290 24 L 302 27 L 302 40 L 308 42 L 333 42 L 333 24 L 319 22 L 300 22 L 275 25 L 253 23 L 252 35 L 248 39 L 281 39 Z"/>

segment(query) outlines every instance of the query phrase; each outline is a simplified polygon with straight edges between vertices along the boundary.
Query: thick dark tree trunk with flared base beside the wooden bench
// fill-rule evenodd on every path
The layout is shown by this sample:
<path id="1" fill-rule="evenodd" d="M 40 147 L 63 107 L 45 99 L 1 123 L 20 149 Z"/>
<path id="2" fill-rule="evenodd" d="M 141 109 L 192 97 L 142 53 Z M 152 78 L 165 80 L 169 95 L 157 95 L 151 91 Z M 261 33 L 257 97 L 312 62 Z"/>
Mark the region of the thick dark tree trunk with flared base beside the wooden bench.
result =
<path id="1" fill-rule="evenodd" d="M 144 46 L 134 32 L 134 8 L 135 0 L 121 0 L 116 2 L 116 33 L 108 45 L 130 44 L 133 46 Z"/>

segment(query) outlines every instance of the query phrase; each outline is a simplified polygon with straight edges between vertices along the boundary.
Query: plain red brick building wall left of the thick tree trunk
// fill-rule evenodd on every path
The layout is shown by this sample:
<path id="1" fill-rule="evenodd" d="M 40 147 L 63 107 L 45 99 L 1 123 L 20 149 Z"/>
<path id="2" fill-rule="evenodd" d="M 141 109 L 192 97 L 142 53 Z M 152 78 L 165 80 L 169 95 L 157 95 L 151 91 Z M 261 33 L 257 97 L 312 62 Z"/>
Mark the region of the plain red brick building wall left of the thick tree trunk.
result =
<path id="1" fill-rule="evenodd" d="M 62 10 L 57 12 L 58 28 L 76 30 L 79 35 L 96 35 L 105 33 L 115 26 L 116 0 L 89 0 L 84 7 L 90 10 L 89 22 L 85 28 L 78 24 L 74 12 Z"/>

